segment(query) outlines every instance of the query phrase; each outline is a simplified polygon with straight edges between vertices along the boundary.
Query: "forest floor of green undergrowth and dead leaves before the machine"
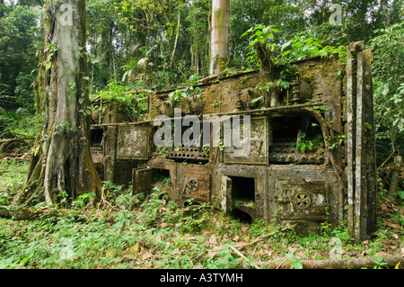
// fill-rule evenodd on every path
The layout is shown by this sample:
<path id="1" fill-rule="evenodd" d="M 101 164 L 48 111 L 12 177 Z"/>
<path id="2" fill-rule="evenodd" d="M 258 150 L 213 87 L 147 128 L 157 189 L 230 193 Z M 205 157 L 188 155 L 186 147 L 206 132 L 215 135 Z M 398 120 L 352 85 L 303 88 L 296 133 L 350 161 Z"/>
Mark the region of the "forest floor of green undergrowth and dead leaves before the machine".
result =
<path id="1" fill-rule="evenodd" d="M 2 209 L 21 208 L 14 200 L 28 165 L 26 158 L 0 158 Z M 344 221 L 336 229 L 324 222 L 319 232 L 299 237 L 291 226 L 242 223 L 210 204 L 180 209 L 167 200 L 166 183 L 146 196 L 106 182 L 97 207 L 88 207 L 92 194 L 86 194 L 68 210 L 66 198 L 57 206 L 39 202 L 34 208 L 43 212 L 36 220 L 0 218 L 0 269 L 300 269 L 326 261 L 328 268 L 404 268 L 397 260 L 404 259 L 404 205 L 382 193 L 377 230 L 356 244 Z M 334 265 L 338 259 L 344 265 Z"/>

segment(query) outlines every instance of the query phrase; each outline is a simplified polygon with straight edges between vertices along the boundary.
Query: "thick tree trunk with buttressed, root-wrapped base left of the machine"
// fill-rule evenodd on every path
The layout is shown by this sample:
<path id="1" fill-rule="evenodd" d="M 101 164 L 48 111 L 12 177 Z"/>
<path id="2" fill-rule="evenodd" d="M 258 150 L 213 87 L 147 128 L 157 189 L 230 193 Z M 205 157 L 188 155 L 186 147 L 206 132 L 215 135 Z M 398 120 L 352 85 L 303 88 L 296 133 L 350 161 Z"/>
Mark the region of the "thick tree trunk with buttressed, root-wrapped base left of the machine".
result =
<path id="1" fill-rule="evenodd" d="M 45 121 L 19 202 L 37 195 L 48 203 L 66 192 L 101 194 L 101 180 L 89 147 L 90 105 L 86 59 L 85 0 L 50 0 L 45 10 L 48 65 L 37 81 Z"/>

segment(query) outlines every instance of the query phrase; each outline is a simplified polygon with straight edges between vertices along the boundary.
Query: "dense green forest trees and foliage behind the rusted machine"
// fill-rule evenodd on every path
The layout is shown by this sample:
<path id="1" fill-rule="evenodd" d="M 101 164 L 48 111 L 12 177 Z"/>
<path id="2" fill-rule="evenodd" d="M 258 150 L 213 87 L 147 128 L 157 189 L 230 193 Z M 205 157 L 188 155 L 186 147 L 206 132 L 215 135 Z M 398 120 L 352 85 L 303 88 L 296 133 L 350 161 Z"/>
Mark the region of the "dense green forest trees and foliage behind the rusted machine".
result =
<path id="1" fill-rule="evenodd" d="M 332 22 L 339 4 L 340 22 Z M 0 137 L 13 137 L 13 123 L 41 111 L 32 83 L 43 47 L 44 1 L 0 1 Z M 139 88 L 170 89 L 190 76 L 209 72 L 211 2 L 206 0 L 86 1 L 90 96 Z M 227 69 L 257 68 L 248 31 L 271 28 L 268 44 L 277 58 L 298 59 L 336 51 L 357 40 L 373 49 L 378 161 L 401 150 L 404 116 L 400 103 L 404 27 L 402 0 L 231 1 L 230 57 Z M 263 37 L 261 34 L 260 37 Z M 296 50 L 304 51 L 298 55 Z M 17 120 L 16 120 L 17 119 Z M 18 132 L 18 131 L 17 131 Z M 33 132 L 33 131 L 32 131 Z"/>

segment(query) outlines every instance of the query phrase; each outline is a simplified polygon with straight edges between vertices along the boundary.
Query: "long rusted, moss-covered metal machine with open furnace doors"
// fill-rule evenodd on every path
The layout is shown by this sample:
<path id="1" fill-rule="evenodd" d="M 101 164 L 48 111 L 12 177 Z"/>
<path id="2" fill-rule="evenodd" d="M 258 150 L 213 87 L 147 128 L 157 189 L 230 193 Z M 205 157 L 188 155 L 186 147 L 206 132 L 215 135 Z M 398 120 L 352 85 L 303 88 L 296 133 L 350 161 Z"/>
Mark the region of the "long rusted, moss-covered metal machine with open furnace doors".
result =
<path id="1" fill-rule="evenodd" d="M 144 121 L 130 122 L 106 104 L 110 110 L 92 124 L 93 161 L 102 180 L 131 182 L 134 193 L 169 177 L 168 194 L 182 206 L 214 202 L 243 220 L 290 222 L 301 231 L 347 220 L 351 234 L 363 240 L 376 221 L 371 63 L 372 52 L 356 42 L 347 47 L 344 65 L 338 56 L 313 57 L 210 76 L 188 86 L 200 94 L 181 101 L 173 101 L 175 91 L 149 94 Z M 286 74 L 289 86 L 277 86 Z M 172 126 L 196 116 L 204 127 L 200 137 L 209 133 L 210 144 L 157 147 L 161 115 Z M 223 145 L 225 121 L 215 126 L 212 119 L 238 116 L 243 130 L 246 115 L 249 153 L 235 157 L 243 147 Z M 187 125 L 180 127 L 185 134 Z"/>

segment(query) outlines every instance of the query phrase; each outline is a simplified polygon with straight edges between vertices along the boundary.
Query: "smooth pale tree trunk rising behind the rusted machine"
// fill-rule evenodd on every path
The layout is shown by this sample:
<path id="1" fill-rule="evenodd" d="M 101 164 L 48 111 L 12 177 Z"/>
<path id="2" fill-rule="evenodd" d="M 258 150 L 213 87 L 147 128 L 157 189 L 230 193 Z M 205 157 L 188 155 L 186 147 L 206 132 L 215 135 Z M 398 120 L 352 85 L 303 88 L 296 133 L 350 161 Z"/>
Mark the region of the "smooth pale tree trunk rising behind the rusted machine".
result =
<path id="1" fill-rule="evenodd" d="M 229 61 L 230 0 L 212 0 L 210 75 L 223 72 Z"/>

